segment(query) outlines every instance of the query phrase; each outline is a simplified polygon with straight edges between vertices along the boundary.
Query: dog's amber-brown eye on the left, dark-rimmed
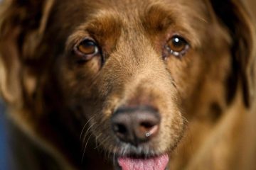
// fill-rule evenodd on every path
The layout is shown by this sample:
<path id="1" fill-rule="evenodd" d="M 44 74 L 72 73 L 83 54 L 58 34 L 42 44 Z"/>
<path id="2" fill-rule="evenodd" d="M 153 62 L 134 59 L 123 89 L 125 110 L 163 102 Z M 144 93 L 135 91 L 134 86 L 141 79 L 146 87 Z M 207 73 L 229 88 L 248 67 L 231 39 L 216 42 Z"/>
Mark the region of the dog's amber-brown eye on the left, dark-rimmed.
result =
<path id="1" fill-rule="evenodd" d="M 99 47 L 97 46 L 96 42 L 90 39 L 82 40 L 76 47 L 75 47 L 75 54 L 78 56 L 83 57 L 83 60 L 90 60 L 93 56 L 99 53 Z"/>

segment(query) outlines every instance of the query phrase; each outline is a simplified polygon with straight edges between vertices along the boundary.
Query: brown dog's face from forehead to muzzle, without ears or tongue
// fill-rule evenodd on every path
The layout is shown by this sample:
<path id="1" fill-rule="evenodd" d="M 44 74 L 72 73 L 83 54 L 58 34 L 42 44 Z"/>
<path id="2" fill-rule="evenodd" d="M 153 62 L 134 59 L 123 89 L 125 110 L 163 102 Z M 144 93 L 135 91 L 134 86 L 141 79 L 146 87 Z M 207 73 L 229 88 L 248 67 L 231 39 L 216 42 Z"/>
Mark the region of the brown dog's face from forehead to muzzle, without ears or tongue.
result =
<path id="1" fill-rule="evenodd" d="M 82 125 L 88 121 L 99 145 L 117 157 L 168 153 L 183 135 L 182 106 L 200 91 L 207 79 L 202 74 L 215 74 L 211 83 L 223 91 L 226 75 L 209 67 L 228 68 L 224 30 L 208 23 L 213 18 L 202 1 L 77 3 L 79 16 L 63 7 L 68 11 L 54 17 L 70 21 L 53 21 L 62 39 L 54 44 L 63 42 L 65 49 L 54 68 L 66 105 L 81 109 L 73 114 L 82 114 Z"/>

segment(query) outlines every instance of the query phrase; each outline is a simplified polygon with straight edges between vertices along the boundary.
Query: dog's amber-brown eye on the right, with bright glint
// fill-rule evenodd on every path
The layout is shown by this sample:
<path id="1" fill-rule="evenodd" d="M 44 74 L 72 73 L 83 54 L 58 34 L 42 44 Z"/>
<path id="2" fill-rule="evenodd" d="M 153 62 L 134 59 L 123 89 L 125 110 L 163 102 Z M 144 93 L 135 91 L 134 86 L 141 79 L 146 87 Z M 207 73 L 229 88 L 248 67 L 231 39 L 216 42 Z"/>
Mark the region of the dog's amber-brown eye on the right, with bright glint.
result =
<path id="1" fill-rule="evenodd" d="M 176 57 L 180 57 L 185 55 L 186 51 L 188 50 L 188 42 L 181 38 L 178 35 L 174 35 L 168 42 L 167 42 L 167 50 Z"/>

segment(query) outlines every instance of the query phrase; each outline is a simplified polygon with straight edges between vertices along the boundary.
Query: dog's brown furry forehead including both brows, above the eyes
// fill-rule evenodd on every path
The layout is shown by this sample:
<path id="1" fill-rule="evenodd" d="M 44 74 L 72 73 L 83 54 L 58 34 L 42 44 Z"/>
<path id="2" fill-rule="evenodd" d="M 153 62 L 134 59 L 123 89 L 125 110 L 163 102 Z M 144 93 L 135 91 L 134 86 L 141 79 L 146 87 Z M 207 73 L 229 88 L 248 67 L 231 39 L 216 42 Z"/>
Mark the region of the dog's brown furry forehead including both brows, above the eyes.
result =
<path id="1" fill-rule="evenodd" d="M 193 39 L 198 37 L 195 30 L 204 29 L 208 21 L 203 0 L 75 0 L 72 6 L 68 0 L 58 0 L 53 12 L 53 24 L 61 26 L 58 30 L 64 32 L 67 28 L 72 33 L 80 26 L 93 23 L 94 31 L 99 30 L 98 34 L 102 35 L 111 35 L 109 32 L 116 30 L 112 29 L 114 27 L 131 28 L 133 31 L 146 28 L 149 32 L 159 26 L 165 28 L 170 23 L 177 23 L 178 29 L 193 34 L 188 35 Z M 102 30 L 110 31 L 100 33 Z M 63 34 L 67 35 L 67 31 Z"/>

